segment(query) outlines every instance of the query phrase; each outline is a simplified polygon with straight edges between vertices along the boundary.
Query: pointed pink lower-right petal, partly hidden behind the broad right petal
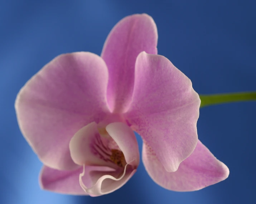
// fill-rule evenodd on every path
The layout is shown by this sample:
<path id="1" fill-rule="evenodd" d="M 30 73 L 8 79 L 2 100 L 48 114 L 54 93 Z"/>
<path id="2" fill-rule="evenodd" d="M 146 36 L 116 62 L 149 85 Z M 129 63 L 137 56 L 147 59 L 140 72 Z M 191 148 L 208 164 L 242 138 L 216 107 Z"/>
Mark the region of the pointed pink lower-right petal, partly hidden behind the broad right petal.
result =
<path id="1" fill-rule="evenodd" d="M 223 181 L 229 175 L 227 166 L 216 159 L 199 140 L 193 153 L 179 165 L 175 172 L 167 172 L 146 144 L 143 144 L 142 156 L 150 177 L 169 190 L 199 190 Z"/>

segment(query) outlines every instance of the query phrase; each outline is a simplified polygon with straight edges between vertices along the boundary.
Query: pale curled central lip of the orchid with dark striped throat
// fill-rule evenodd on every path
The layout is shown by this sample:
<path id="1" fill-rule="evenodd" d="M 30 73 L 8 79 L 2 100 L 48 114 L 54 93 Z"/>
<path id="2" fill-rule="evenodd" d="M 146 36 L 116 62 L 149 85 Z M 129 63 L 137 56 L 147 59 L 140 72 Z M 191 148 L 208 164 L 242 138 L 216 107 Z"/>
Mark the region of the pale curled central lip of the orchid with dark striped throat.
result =
<path id="1" fill-rule="evenodd" d="M 69 143 L 74 163 L 83 166 L 83 172 L 79 175 L 79 184 L 91 196 L 107 194 L 119 188 L 135 173 L 139 165 L 139 150 L 132 129 L 123 122 L 106 124 L 106 121 L 100 125 L 93 122 L 84 126 L 74 134 Z M 136 148 L 137 151 L 134 151 Z M 84 184 L 82 180 L 88 166 L 104 169 L 96 170 L 101 172 L 101 176 L 91 181 L 92 184 L 88 182 Z M 112 172 L 113 175 L 107 172 Z M 102 182 L 105 179 L 121 183 L 113 184 L 113 188 L 104 188 Z"/>

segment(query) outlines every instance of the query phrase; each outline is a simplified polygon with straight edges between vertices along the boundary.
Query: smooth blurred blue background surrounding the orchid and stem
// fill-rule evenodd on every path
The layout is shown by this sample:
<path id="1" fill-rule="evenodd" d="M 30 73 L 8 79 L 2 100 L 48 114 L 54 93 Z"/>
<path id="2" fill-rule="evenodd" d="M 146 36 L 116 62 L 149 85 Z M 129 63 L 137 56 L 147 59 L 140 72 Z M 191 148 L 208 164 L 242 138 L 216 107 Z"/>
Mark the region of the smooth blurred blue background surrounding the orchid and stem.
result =
<path id="1" fill-rule="evenodd" d="M 177 193 L 155 184 L 141 163 L 125 186 L 97 198 L 40 190 L 42 164 L 21 135 L 14 111 L 19 89 L 44 64 L 73 51 L 100 55 L 111 28 L 134 13 L 154 18 L 159 54 L 183 71 L 199 94 L 256 90 L 255 6 L 254 0 L 1 0 L 0 203 L 255 203 L 255 102 L 201 109 L 199 139 L 230 168 L 227 180 Z"/>

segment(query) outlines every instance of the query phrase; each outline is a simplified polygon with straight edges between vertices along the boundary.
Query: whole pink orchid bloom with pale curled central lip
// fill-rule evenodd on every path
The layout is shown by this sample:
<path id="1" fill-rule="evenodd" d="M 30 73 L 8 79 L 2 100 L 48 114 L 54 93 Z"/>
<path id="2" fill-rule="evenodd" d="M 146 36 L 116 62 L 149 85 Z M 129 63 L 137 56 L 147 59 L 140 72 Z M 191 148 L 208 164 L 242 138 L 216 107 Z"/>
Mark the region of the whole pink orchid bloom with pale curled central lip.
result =
<path id="1" fill-rule="evenodd" d="M 193 191 L 227 178 L 227 166 L 198 140 L 198 94 L 157 55 L 157 40 L 150 16 L 127 16 L 101 57 L 59 55 L 20 90 L 18 123 L 44 164 L 43 189 L 91 196 L 119 189 L 139 165 L 134 131 L 143 139 L 144 166 L 160 186 Z"/>

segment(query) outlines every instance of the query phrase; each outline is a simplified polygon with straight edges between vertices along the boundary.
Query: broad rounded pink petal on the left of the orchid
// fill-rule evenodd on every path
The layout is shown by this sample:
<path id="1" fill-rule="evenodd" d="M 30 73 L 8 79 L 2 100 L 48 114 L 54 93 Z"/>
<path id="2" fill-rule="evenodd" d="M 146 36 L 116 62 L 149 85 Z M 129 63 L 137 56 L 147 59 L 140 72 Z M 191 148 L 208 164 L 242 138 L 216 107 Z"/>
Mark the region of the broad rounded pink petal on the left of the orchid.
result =
<path id="1" fill-rule="evenodd" d="M 105 62 L 80 52 L 59 55 L 20 90 L 15 102 L 18 123 L 45 165 L 78 168 L 69 141 L 84 125 L 105 117 L 107 81 Z"/>

